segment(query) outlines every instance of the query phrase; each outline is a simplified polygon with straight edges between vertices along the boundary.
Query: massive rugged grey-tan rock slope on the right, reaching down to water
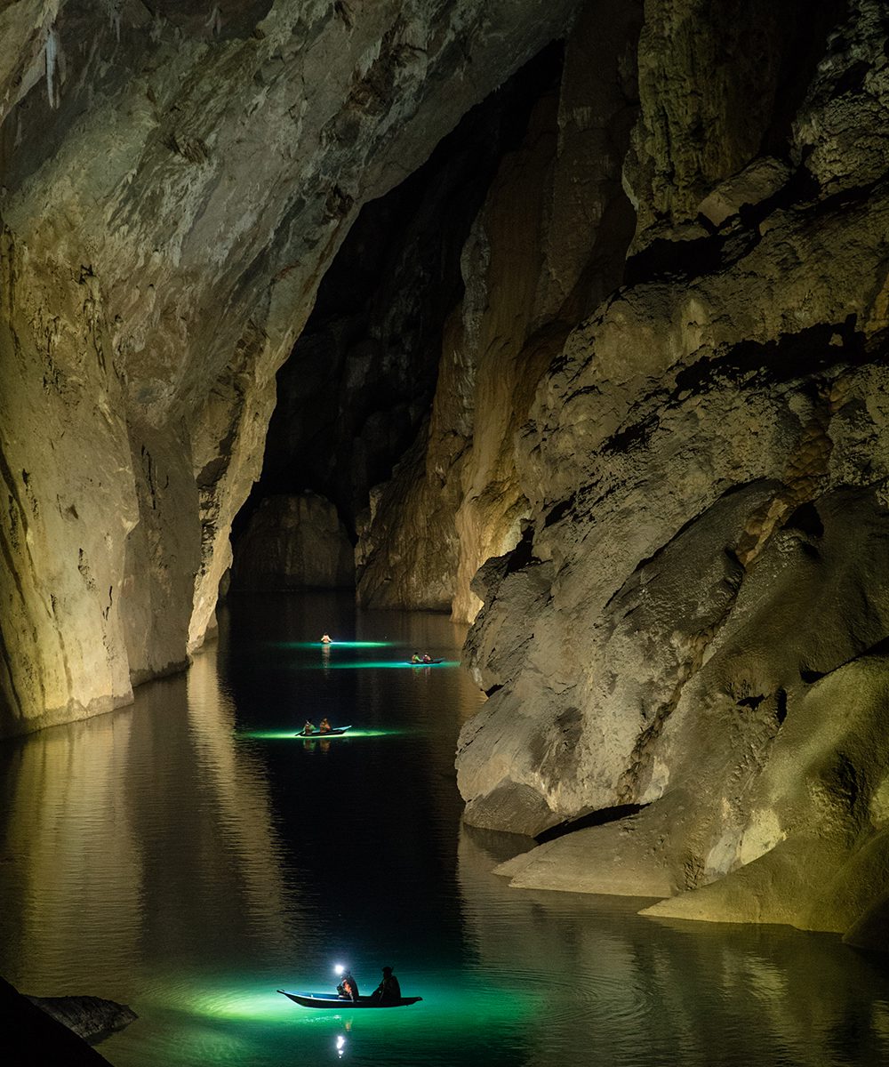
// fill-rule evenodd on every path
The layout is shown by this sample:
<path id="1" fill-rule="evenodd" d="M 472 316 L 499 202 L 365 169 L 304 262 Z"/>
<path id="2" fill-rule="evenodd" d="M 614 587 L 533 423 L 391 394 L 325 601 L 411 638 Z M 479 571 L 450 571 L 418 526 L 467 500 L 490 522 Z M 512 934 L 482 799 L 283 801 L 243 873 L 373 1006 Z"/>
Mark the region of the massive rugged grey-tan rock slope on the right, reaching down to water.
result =
<path id="1" fill-rule="evenodd" d="M 466 819 L 539 833 L 640 810 L 506 864 L 517 886 L 658 895 L 655 914 L 787 922 L 855 943 L 885 911 L 889 190 L 874 115 L 889 63 L 877 6 L 835 11 L 847 25 L 825 35 L 793 123 L 767 109 L 757 120 L 769 137 L 785 130 L 778 155 L 807 161 L 782 188 L 735 195 L 758 171 L 780 175 L 774 144 L 751 136 L 708 170 L 683 124 L 687 144 L 670 150 L 689 176 L 668 190 L 647 172 L 636 246 L 644 234 L 649 251 L 632 284 L 574 331 L 538 389 L 519 462 L 527 534 L 476 579 L 485 607 L 469 649 L 491 696 L 461 735 Z M 634 181 L 655 86 L 669 125 L 670 86 L 684 81 L 693 99 L 703 78 L 661 34 L 671 27 L 674 42 L 700 15 L 647 6 Z M 735 32 L 697 30 L 695 49 Z M 724 100 L 745 64 L 726 68 Z M 763 146 L 751 166 L 748 149 Z M 717 188 L 741 210 L 689 242 L 683 219 Z"/>

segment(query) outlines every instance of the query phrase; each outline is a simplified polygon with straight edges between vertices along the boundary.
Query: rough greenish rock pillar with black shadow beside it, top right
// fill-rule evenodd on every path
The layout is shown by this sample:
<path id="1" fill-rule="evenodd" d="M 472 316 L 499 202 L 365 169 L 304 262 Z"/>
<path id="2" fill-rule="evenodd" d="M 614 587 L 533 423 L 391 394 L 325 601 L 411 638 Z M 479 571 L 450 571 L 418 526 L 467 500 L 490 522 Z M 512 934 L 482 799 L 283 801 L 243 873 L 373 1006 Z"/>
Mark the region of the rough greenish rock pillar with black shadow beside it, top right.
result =
<path id="1" fill-rule="evenodd" d="M 646 4 L 641 115 L 624 166 L 636 250 L 679 237 L 703 196 L 763 149 L 787 152 L 839 14 L 834 0 L 729 0 L 718 17 L 707 0 Z"/>

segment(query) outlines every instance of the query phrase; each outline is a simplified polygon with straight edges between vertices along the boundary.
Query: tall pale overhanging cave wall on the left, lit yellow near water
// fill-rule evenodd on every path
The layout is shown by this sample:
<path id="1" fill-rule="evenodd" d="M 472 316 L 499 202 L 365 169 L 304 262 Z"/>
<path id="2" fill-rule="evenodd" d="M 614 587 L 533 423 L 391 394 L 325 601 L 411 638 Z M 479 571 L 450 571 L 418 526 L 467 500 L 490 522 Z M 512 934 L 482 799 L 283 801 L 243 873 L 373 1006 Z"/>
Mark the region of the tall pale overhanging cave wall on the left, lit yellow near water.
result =
<path id="1" fill-rule="evenodd" d="M 575 6 L 3 5 L 0 733 L 185 665 L 362 204 Z"/>

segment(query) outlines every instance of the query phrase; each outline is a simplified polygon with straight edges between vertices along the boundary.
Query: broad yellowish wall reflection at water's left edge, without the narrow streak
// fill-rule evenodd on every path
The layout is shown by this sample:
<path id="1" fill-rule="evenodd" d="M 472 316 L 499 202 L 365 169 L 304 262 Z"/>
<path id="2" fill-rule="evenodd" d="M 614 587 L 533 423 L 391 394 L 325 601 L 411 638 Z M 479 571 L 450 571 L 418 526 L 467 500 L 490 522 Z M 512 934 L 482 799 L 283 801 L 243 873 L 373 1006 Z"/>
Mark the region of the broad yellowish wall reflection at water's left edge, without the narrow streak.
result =
<path id="1" fill-rule="evenodd" d="M 107 715 L 0 750 L 0 945 L 14 982 L 29 956 L 41 959 L 43 990 L 54 993 L 101 965 L 125 969 L 138 954 L 129 917 L 143 906 L 145 867 L 122 774 L 131 739 L 131 717 Z"/>

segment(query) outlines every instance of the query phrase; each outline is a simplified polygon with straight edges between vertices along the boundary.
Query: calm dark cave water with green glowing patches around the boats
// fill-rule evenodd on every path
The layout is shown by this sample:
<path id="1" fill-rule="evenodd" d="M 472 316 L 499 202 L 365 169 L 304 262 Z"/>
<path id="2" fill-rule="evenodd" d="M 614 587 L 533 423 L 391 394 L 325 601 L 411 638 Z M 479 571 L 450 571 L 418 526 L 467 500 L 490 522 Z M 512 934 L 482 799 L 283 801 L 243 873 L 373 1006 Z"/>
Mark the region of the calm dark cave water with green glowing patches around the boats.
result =
<path id="1" fill-rule="evenodd" d="M 522 838 L 460 826 L 481 697 L 443 617 L 236 600 L 218 644 L 132 707 L 0 748 L 0 973 L 140 1015 L 116 1067 L 889 1063 L 889 970 L 839 939 L 665 923 L 510 890 Z M 367 647 L 315 644 L 338 638 Z M 327 715 L 354 733 L 292 736 Z M 420 1004 L 312 1012 L 277 988 Z"/>

